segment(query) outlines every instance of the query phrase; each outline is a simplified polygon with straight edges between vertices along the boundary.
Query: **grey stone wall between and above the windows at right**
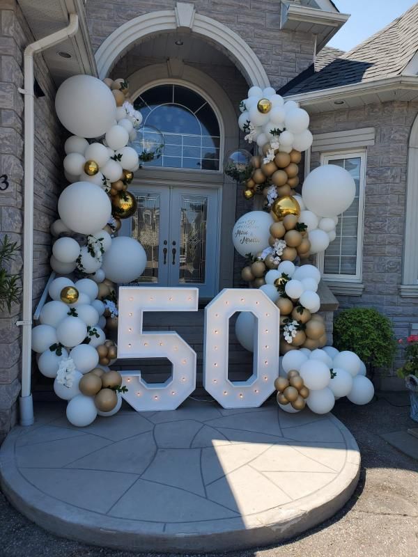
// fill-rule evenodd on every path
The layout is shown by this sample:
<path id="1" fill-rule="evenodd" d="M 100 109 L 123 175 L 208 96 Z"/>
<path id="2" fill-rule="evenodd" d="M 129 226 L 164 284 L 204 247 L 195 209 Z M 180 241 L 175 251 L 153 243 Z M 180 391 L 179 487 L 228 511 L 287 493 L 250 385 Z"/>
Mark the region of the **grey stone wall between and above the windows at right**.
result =
<path id="1" fill-rule="evenodd" d="M 337 295 L 340 308 L 373 307 L 394 324 L 396 338 L 418 322 L 416 298 L 399 295 L 402 280 L 403 236 L 408 139 L 418 113 L 417 102 L 385 102 L 311 116 L 313 134 L 374 127 L 376 143 L 366 150 L 363 284 L 361 296 Z M 311 168 L 320 153 L 312 153 Z M 398 354 L 394 369 L 400 363 Z M 394 375 L 394 370 L 389 370 Z M 386 384 L 390 384 L 386 382 Z M 393 385 L 393 383 L 392 383 Z"/>

